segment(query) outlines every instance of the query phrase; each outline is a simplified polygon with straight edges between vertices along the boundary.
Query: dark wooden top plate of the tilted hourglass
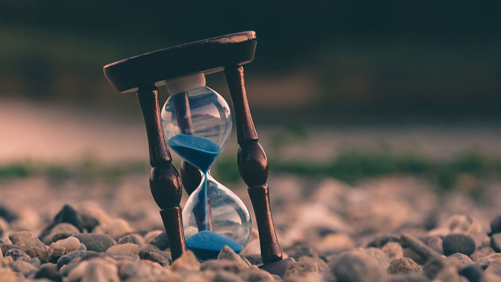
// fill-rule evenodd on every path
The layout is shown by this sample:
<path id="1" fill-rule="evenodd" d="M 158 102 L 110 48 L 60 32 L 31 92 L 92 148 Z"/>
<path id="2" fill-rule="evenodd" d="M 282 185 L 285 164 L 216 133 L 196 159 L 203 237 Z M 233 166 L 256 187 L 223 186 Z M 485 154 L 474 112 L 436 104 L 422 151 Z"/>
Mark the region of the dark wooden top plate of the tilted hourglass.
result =
<path id="1" fill-rule="evenodd" d="M 210 74 L 224 67 L 254 60 L 256 32 L 245 31 L 178 45 L 104 66 L 104 75 L 120 93 L 196 73 Z"/>

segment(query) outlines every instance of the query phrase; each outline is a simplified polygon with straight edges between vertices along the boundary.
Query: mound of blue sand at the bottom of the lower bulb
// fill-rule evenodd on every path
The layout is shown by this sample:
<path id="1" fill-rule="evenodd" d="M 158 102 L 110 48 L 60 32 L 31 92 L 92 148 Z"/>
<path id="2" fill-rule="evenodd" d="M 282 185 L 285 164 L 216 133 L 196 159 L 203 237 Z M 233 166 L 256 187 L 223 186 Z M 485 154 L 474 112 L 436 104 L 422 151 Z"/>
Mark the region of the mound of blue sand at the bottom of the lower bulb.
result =
<path id="1" fill-rule="evenodd" d="M 230 247 L 236 253 L 242 251 L 240 244 L 212 231 L 203 230 L 186 239 L 186 247 L 202 260 L 217 258 L 224 246 Z"/>

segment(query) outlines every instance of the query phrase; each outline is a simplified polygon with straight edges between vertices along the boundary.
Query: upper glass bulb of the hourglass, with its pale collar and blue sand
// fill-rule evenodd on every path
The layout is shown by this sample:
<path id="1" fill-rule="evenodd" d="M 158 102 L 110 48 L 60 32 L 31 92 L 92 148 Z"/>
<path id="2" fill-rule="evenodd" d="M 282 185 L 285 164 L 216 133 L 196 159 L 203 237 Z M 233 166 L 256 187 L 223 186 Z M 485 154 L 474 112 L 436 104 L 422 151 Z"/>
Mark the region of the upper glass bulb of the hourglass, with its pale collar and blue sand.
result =
<path id="1" fill-rule="evenodd" d="M 181 158 L 207 172 L 231 133 L 228 103 L 205 86 L 203 74 L 167 82 L 171 96 L 161 118 L 167 144 Z"/>

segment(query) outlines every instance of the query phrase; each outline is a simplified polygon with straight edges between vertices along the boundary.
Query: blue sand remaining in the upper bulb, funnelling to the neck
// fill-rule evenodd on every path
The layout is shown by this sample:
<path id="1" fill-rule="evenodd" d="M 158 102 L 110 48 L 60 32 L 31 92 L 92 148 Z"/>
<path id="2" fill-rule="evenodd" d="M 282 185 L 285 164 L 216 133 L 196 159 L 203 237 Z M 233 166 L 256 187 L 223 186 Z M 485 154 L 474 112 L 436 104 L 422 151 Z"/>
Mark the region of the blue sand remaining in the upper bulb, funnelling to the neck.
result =
<path id="1" fill-rule="evenodd" d="M 211 139 L 188 134 L 177 134 L 167 144 L 172 151 L 203 173 L 209 170 L 221 152 L 219 145 Z"/>

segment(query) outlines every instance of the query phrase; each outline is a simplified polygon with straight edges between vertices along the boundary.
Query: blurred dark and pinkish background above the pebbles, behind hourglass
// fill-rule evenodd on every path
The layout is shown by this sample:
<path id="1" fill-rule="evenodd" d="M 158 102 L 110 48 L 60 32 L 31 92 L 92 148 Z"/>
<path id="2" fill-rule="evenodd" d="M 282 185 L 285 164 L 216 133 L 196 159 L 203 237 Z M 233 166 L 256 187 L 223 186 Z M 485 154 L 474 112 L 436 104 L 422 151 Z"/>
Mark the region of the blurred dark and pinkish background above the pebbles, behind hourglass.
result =
<path id="1" fill-rule="evenodd" d="M 410 177 L 485 199 L 501 173 L 500 11 L 464 0 L 1 1 L 0 181 L 61 193 L 140 185 L 151 197 L 137 98 L 117 93 L 102 67 L 254 30 L 245 83 L 281 193 Z M 206 78 L 229 102 L 223 74 Z M 234 133 L 212 172 L 241 190 Z M 98 194 L 78 195 L 113 193 Z"/>

